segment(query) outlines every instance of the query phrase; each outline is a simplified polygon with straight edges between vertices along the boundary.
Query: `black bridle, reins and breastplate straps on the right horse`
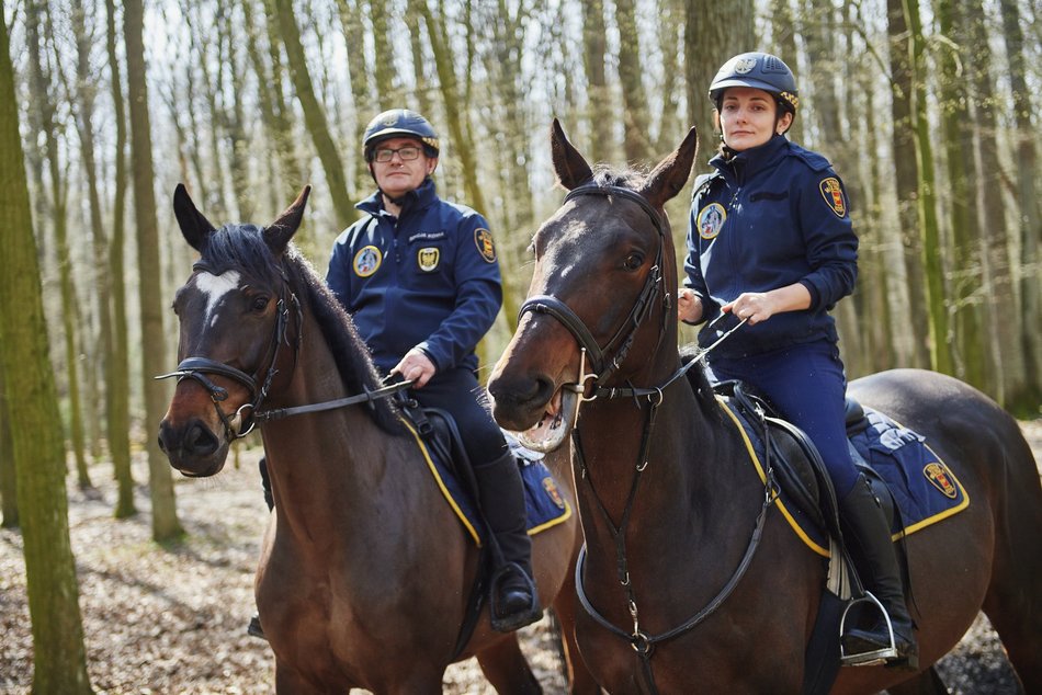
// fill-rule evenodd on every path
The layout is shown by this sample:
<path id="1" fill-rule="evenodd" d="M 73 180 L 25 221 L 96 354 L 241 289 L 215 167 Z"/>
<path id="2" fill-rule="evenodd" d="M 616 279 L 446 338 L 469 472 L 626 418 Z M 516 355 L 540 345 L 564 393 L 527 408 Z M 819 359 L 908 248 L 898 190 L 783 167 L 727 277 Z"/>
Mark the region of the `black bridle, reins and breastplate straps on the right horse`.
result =
<path id="1" fill-rule="evenodd" d="M 763 527 L 767 520 L 767 511 L 771 506 L 774 500 L 774 478 L 773 470 L 768 466 L 767 469 L 767 481 L 764 486 L 764 498 L 763 504 L 760 508 L 760 512 L 756 520 L 756 526 L 752 532 L 752 536 L 749 540 L 749 544 L 746 548 L 745 555 L 738 563 L 737 569 L 735 570 L 732 578 L 721 589 L 721 591 L 714 596 L 709 604 L 706 604 L 701 611 L 695 615 L 684 620 L 681 625 L 669 629 L 665 633 L 658 635 L 648 635 L 641 628 L 639 622 L 639 611 L 637 608 L 636 594 L 633 590 L 633 584 L 630 581 L 630 570 L 628 562 L 626 558 L 626 543 L 625 543 L 625 532 L 630 523 L 630 514 L 633 510 L 633 503 L 636 499 L 637 489 L 641 483 L 641 474 L 647 468 L 648 465 L 648 449 L 652 442 L 652 431 L 655 425 L 655 415 L 658 412 L 658 408 L 662 405 L 664 392 L 666 388 L 672 385 L 675 381 L 679 380 L 687 374 L 688 369 L 693 367 L 696 363 L 701 362 L 711 350 L 716 345 L 723 342 L 728 335 L 734 331 L 741 328 L 745 324 L 745 320 L 738 322 L 734 328 L 729 329 L 723 333 L 713 344 L 702 350 L 694 358 L 688 362 L 686 365 L 677 369 L 670 377 L 659 386 L 650 388 L 638 388 L 634 387 L 632 384 L 628 384 L 625 387 L 609 387 L 603 384 L 608 380 L 608 377 L 616 372 L 623 361 L 626 357 L 630 348 L 633 345 L 636 332 L 641 328 L 641 324 L 647 319 L 648 314 L 654 306 L 654 296 L 656 290 L 661 294 L 661 305 L 662 305 L 662 321 L 659 330 L 659 340 L 656 345 L 655 353 L 658 352 L 658 349 L 661 346 L 661 341 L 666 334 L 666 321 L 670 320 L 670 307 L 672 306 L 670 299 L 669 290 L 662 286 L 662 262 L 666 248 L 666 229 L 662 224 L 661 216 L 658 212 L 652 207 L 650 203 L 635 191 L 628 189 L 623 189 L 615 185 L 602 185 L 597 183 L 584 184 L 573 189 L 566 196 L 564 202 L 580 196 L 580 195 L 602 195 L 602 196 L 618 196 L 625 198 L 638 204 L 648 217 L 650 217 L 653 225 L 655 226 L 656 231 L 659 235 L 659 247 L 658 252 L 655 257 L 655 263 L 648 272 L 647 280 L 645 280 L 644 287 L 641 289 L 639 295 L 637 295 L 636 300 L 634 301 L 633 307 L 630 309 L 630 314 L 619 326 L 611 340 L 601 348 L 597 340 L 593 338 L 593 334 L 587 328 L 575 311 L 571 310 L 564 301 L 553 297 L 551 295 L 536 295 L 529 298 L 522 306 L 519 314 L 519 318 L 524 316 L 526 312 L 536 312 L 536 314 L 546 314 L 554 317 L 559 321 L 576 339 L 576 342 L 579 344 L 580 349 L 580 362 L 579 362 L 579 377 L 576 384 L 564 385 L 562 388 L 568 388 L 576 391 L 579 395 L 580 405 L 582 401 L 590 401 L 597 398 L 605 399 L 615 399 L 615 398 L 630 398 L 633 402 L 641 409 L 643 409 L 643 402 L 646 400 L 648 403 L 647 414 L 644 421 L 644 428 L 641 434 L 641 444 L 638 447 L 635 472 L 633 481 L 630 486 L 630 491 L 626 497 L 626 502 L 623 508 L 622 519 L 616 525 L 611 517 L 611 514 L 608 512 L 608 508 L 601 501 L 600 495 L 597 493 L 597 489 L 593 487 L 593 481 L 588 475 L 586 457 L 582 452 L 582 441 L 579 434 L 578 426 L 578 412 L 576 413 L 576 423 L 571 429 L 571 442 L 573 451 L 576 460 L 576 465 L 579 468 L 581 474 L 581 479 L 589 487 L 591 497 L 596 502 L 596 506 L 603 519 L 609 533 L 612 536 L 612 540 L 615 546 L 615 569 L 619 583 L 621 584 L 623 592 L 626 596 L 626 607 L 628 609 L 630 616 L 633 619 L 633 629 L 627 631 L 623 628 L 618 627 L 605 618 L 593 604 L 590 602 L 589 596 L 586 593 L 584 586 L 584 569 L 586 567 L 586 544 L 582 545 L 582 548 L 579 550 L 579 556 L 576 560 L 576 570 L 575 570 L 575 584 L 576 592 L 578 594 L 579 603 L 582 605 L 587 614 L 593 618 L 593 620 L 601 627 L 608 629 L 615 636 L 624 639 L 633 647 L 634 651 L 637 653 L 641 659 L 642 673 L 644 675 L 645 685 L 647 686 L 648 692 L 658 693 L 658 687 L 655 684 L 655 674 L 652 670 L 652 652 L 656 645 L 668 641 L 689 630 L 693 629 L 696 625 L 702 623 L 706 617 L 709 617 L 713 612 L 716 611 L 724 603 L 728 595 L 734 591 L 738 585 L 741 578 L 745 576 L 746 570 L 752 561 L 752 556 L 756 552 L 757 547 L 759 546 L 760 538 L 762 536 Z M 723 316 L 721 317 L 723 318 Z M 718 321 L 720 318 L 716 319 Z M 715 321 L 714 321 L 715 322 Z M 712 326 L 712 324 L 711 324 Z M 655 354 L 652 353 L 652 354 Z M 592 368 L 591 373 L 586 373 L 586 358 L 589 356 L 590 366 Z M 587 384 L 587 381 L 592 380 L 592 384 Z M 590 395 L 587 395 L 587 391 L 590 391 Z M 578 408 L 578 406 L 577 406 Z"/>

